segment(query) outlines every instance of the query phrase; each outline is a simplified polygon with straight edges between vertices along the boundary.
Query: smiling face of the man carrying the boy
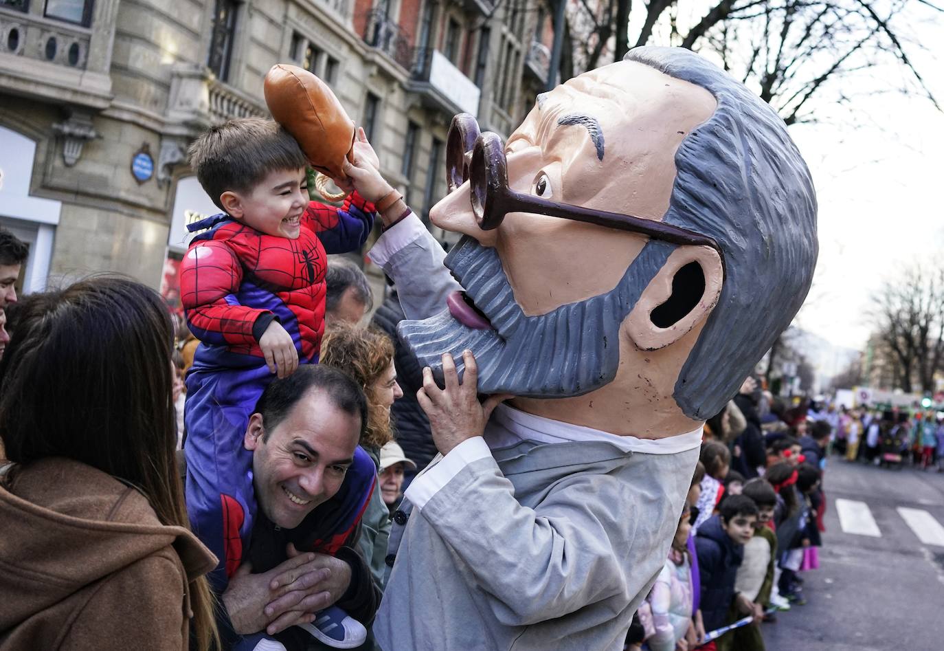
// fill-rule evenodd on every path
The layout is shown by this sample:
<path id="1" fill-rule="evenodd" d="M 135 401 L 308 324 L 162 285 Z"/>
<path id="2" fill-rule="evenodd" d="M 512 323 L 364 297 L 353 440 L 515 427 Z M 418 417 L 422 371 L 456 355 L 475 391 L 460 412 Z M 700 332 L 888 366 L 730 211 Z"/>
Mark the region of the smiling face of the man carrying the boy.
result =
<path id="1" fill-rule="evenodd" d="M 295 528 L 341 488 L 360 435 L 360 416 L 339 409 L 318 389 L 302 396 L 269 432 L 261 414 L 253 414 L 244 445 L 253 452 L 261 511 L 278 526 Z"/>

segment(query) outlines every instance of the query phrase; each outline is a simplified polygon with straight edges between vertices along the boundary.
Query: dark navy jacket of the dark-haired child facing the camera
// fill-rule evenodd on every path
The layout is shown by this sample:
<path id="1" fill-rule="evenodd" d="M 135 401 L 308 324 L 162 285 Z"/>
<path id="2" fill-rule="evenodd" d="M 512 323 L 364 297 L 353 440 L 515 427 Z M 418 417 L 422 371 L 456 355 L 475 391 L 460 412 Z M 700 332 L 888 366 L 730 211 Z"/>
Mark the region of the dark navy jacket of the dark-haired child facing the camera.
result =
<path id="1" fill-rule="evenodd" d="M 701 617 L 706 631 L 728 622 L 734 600 L 737 568 L 744 560 L 744 545 L 734 544 L 721 526 L 721 516 L 713 515 L 699 527 L 695 537 L 701 581 Z"/>

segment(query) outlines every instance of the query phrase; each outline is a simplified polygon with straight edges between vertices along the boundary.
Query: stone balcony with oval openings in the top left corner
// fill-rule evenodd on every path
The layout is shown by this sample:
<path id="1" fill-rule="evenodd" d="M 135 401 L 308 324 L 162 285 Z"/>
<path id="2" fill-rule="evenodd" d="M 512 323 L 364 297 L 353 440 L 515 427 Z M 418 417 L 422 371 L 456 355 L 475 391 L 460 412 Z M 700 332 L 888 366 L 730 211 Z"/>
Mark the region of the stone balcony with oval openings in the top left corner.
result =
<path id="1" fill-rule="evenodd" d="M 99 4 L 95 18 L 103 25 L 93 22 L 94 29 L 0 8 L 0 88 L 74 107 L 108 107 L 110 52 L 102 44 L 110 42 L 113 12 L 111 3 Z"/>

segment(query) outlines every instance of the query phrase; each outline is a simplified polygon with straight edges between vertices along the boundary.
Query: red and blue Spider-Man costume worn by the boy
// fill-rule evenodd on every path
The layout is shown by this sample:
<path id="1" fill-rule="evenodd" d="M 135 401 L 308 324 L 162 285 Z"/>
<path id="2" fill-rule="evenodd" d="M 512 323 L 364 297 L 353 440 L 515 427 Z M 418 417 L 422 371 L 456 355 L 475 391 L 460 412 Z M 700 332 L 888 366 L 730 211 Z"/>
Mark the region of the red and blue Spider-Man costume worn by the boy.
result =
<path id="1" fill-rule="evenodd" d="M 373 225 L 373 204 L 355 193 L 340 208 L 309 203 L 295 239 L 261 233 L 228 214 L 188 227 L 201 232 L 180 266 L 180 298 L 201 343 L 187 375 L 187 510 L 194 533 L 220 559 L 211 574 L 217 591 L 225 590 L 244 557 L 256 512 L 252 453 L 243 439 L 275 377 L 259 339 L 276 319 L 292 335 L 298 363 L 317 364 L 326 254 L 360 249 Z M 375 477 L 373 461 L 359 447 L 338 494 L 312 513 L 332 514 L 310 539 L 317 548 L 303 551 L 336 551 L 334 541 L 360 521 Z"/>

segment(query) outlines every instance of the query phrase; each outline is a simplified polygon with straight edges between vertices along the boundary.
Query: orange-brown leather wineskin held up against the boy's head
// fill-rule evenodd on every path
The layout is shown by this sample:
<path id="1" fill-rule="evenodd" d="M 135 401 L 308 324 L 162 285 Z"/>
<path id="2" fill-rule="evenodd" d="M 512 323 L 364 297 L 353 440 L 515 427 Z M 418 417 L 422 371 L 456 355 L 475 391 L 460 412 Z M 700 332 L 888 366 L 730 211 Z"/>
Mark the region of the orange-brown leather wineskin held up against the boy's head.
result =
<path id="1" fill-rule="evenodd" d="M 265 76 L 265 103 L 292 134 L 312 167 L 344 177 L 345 157 L 354 162 L 354 121 L 324 81 L 304 68 L 277 63 Z"/>

